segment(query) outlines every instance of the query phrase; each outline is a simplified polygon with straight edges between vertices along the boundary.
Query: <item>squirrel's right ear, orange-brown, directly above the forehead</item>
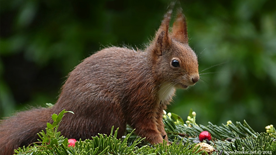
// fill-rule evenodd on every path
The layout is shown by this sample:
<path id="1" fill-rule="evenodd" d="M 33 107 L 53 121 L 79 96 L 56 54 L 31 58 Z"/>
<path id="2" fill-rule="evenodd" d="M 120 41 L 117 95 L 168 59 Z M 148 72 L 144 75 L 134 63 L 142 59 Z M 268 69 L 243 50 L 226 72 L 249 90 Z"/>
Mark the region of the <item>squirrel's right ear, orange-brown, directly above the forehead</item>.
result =
<path id="1" fill-rule="evenodd" d="M 187 24 L 181 8 L 178 9 L 176 20 L 172 26 L 172 37 L 181 43 L 188 44 Z"/>

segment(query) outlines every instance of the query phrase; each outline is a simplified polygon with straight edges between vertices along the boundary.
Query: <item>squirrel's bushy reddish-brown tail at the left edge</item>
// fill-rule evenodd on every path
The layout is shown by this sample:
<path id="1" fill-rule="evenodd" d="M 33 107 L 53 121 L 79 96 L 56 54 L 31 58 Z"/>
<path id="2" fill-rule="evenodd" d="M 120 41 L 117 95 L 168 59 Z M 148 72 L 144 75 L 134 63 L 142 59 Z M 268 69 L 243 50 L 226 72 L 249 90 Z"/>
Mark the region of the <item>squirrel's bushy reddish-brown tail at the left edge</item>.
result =
<path id="1" fill-rule="evenodd" d="M 1 120 L 0 154 L 12 155 L 14 149 L 37 142 L 37 133 L 47 127 L 47 122 L 51 122 L 51 111 L 51 108 L 32 109 Z"/>

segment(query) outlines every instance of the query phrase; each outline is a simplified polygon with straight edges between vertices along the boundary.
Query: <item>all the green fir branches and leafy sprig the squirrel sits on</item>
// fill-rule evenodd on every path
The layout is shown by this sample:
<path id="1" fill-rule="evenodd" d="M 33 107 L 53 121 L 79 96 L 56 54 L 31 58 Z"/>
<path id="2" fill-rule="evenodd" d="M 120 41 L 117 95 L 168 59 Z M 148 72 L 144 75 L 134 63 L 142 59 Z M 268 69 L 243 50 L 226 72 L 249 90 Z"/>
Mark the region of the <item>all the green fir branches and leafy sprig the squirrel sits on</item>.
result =
<path id="1" fill-rule="evenodd" d="M 117 139 L 117 130 L 114 132 L 114 127 L 111 129 L 111 134 L 99 134 L 92 137 L 92 139 L 81 139 L 75 143 L 74 147 L 68 147 L 68 139 L 60 136 L 60 132 L 57 132 L 59 123 L 66 113 L 63 110 L 59 115 L 53 114 L 53 124 L 47 123 L 45 134 L 44 131 L 40 132 L 41 138 L 38 145 L 34 143 L 34 146 L 28 146 L 18 148 L 15 152 L 17 155 L 102 155 L 102 154 L 114 154 L 114 155 L 200 155 L 207 153 L 204 150 L 199 150 L 201 147 L 196 146 L 198 144 L 198 135 L 202 131 L 208 131 L 211 134 L 211 143 L 216 151 L 212 154 L 216 155 L 220 151 L 222 154 L 244 154 L 244 152 L 261 151 L 262 154 L 276 155 L 276 139 L 271 137 L 268 133 L 256 133 L 247 124 L 246 121 L 241 124 L 236 122 L 234 125 L 231 121 L 228 121 L 226 125 L 222 126 L 213 125 L 209 122 L 209 125 L 197 125 L 195 123 L 196 113 L 192 112 L 193 123 L 183 124 L 180 120 L 183 119 L 174 113 L 165 114 L 163 122 L 165 130 L 168 135 L 169 145 L 164 140 L 160 144 L 147 144 L 145 138 L 141 138 L 133 132 L 129 126 L 127 126 L 127 135 L 124 138 Z M 174 121 L 171 117 L 176 120 Z M 191 117 L 189 116 L 189 117 Z M 188 119 L 191 119 L 189 118 Z M 186 121 L 187 122 L 187 121 Z M 270 125 L 269 129 L 275 130 Z M 268 129 L 268 126 L 266 127 Z M 49 141 L 48 141 L 49 140 Z M 203 142 L 206 142 L 205 140 Z M 251 153 L 252 154 L 252 153 Z M 258 153 L 260 154 L 260 153 Z"/>

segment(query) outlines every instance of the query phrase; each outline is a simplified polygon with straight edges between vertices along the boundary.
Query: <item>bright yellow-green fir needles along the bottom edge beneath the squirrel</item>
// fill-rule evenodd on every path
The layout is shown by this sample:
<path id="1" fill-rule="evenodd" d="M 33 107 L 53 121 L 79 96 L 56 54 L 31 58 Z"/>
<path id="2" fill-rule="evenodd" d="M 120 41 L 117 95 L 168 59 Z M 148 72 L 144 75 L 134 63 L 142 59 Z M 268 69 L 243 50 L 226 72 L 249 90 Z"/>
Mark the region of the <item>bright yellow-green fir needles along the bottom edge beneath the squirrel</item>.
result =
<path id="1" fill-rule="evenodd" d="M 195 147 L 195 144 L 189 144 L 186 142 L 182 143 L 182 139 L 174 139 L 174 142 L 171 145 L 167 145 L 167 142 L 164 141 L 163 144 L 157 144 L 152 147 L 148 145 L 144 145 L 142 147 L 137 147 L 138 144 L 145 138 L 137 138 L 131 144 L 128 143 L 128 139 L 130 138 L 132 131 L 130 134 L 127 134 L 126 137 L 121 140 L 117 139 L 118 128 L 115 131 L 115 134 L 112 135 L 114 130 L 114 126 L 111 129 L 111 134 L 109 136 L 99 134 L 99 136 L 92 137 L 92 139 L 86 139 L 82 141 L 81 139 L 75 143 L 74 147 L 68 147 L 64 142 L 59 145 L 54 144 L 53 146 L 43 148 L 42 150 L 38 150 L 37 147 L 23 147 L 18 148 L 16 150 L 17 155 L 101 155 L 101 154 L 126 154 L 126 155 L 138 155 L 138 154 L 151 154 L 151 155 L 178 155 L 178 154 L 189 154 L 189 155 L 199 155 L 203 153 L 203 151 L 198 152 L 200 147 Z M 62 137 L 62 136 L 61 136 Z M 68 139 L 64 139 L 64 141 Z M 198 153 L 196 153 L 198 152 Z"/>

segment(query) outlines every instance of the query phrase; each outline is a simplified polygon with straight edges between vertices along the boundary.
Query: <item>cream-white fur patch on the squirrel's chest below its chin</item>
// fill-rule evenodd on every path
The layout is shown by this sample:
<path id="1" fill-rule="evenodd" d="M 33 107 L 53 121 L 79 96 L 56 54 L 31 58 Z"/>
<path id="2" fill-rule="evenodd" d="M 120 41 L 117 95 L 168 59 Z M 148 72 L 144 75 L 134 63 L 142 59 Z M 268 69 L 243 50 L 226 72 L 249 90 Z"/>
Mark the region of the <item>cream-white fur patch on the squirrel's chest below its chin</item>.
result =
<path id="1" fill-rule="evenodd" d="M 171 100 L 171 97 L 175 94 L 175 90 L 171 83 L 162 83 L 158 91 L 159 103 L 165 103 Z"/>

